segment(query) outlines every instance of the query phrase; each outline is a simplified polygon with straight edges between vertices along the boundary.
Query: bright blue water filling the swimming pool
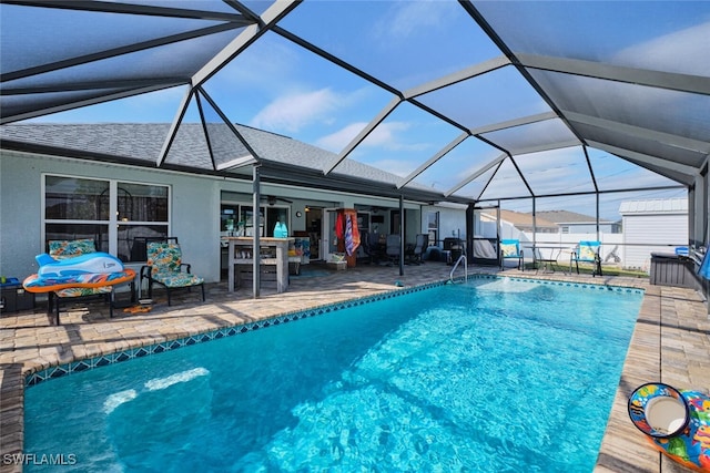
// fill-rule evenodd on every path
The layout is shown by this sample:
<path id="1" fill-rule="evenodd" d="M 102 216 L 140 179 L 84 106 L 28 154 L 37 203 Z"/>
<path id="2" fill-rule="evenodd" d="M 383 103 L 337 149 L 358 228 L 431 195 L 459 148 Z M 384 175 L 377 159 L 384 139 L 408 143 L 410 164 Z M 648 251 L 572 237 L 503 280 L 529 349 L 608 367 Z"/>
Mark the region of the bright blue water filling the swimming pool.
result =
<path id="1" fill-rule="evenodd" d="M 29 388 L 24 451 L 87 472 L 590 472 L 641 298 L 478 279 L 115 363 Z"/>

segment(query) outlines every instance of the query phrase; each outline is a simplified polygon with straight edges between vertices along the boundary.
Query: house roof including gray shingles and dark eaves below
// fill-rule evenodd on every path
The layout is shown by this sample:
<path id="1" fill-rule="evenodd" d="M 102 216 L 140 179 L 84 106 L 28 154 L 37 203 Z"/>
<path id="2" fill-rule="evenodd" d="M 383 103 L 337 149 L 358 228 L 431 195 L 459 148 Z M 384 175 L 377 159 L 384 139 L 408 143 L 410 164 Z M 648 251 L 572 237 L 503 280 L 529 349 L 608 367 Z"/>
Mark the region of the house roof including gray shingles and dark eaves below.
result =
<path id="1" fill-rule="evenodd" d="M 232 125 L 248 141 L 250 148 L 234 138 L 230 127 L 212 125 L 210 145 L 204 140 L 201 124 L 184 123 L 175 141 L 171 144 L 163 167 L 173 169 L 199 169 L 211 172 L 214 167 L 233 177 L 252 178 L 250 166 L 240 162 L 252 153 L 258 156 L 268 179 L 283 176 L 296 181 L 296 168 L 311 174 L 310 181 L 323 175 L 324 168 L 335 157 L 334 153 L 302 143 L 297 140 L 275 133 L 264 132 L 250 126 Z M 161 136 L 170 128 L 170 123 L 97 123 L 97 124 L 54 124 L 27 123 L 9 124 L 0 127 L 0 141 L 3 148 L 33 151 L 48 154 L 63 154 L 83 160 L 119 158 L 136 166 L 155 167 L 161 153 Z M 212 148 L 212 154 L 210 153 Z M 211 156 L 220 156 L 213 163 Z M 247 161 L 253 163 L 253 161 Z M 335 177 L 342 176 L 337 183 Z M 382 186 L 394 188 L 399 177 L 373 166 L 353 160 L 346 160 L 331 179 L 323 179 L 322 186 L 334 189 L 347 189 L 344 182 L 355 185 L 353 191 L 363 192 L 363 183 L 376 189 Z M 423 186 L 415 186 L 404 193 L 416 200 L 430 200 L 438 197 Z M 395 195 L 396 196 L 396 195 Z"/>

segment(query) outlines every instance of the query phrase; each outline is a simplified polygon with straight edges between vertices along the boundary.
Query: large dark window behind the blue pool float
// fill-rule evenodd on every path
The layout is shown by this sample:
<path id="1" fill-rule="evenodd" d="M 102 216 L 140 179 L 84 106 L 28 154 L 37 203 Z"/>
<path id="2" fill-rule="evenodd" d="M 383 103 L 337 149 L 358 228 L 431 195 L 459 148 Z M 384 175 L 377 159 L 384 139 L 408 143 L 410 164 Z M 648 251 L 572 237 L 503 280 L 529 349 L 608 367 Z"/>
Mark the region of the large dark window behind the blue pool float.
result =
<path id="1" fill-rule="evenodd" d="M 44 240 L 91 238 L 124 263 L 145 260 L 145 238 L 166 237 L 169 187 L 44 176 Z"/>

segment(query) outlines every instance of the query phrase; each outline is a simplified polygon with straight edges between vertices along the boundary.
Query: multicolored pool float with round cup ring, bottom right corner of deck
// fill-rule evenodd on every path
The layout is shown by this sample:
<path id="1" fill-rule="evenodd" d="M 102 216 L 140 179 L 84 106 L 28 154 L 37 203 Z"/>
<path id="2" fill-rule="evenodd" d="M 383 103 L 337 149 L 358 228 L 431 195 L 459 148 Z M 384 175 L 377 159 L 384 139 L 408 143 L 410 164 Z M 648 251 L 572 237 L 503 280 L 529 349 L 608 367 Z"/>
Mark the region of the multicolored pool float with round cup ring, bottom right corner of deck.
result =
<path id="1" fill-rule="evenodd" d="M 653 448 L 683 466 L 710 472 L 710 397 L 647 383 L 633 391 L 628 409 Z"/>

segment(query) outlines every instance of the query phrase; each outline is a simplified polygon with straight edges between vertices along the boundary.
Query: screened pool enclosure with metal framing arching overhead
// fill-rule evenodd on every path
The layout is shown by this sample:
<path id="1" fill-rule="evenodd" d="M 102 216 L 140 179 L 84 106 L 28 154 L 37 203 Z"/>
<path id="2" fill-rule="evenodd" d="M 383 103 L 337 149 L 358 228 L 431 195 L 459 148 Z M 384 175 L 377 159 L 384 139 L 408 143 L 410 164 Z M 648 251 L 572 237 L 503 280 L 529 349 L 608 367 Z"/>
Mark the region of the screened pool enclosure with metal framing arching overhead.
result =
<path id="1" fill-rule="evenodd" d="M 258 168 L 527 213 L 534 233 L 542 213 L 598 235 L 622 202 L 680 197 L 688 240 L 669 244 L 709 239 L 707 1 L 3 0 L 0 21 L 3 150 Z M 88 122 L 166 125 L 142 160 L 27 127 Z M 317 151 L 270 153 L 257 131 Z"/>

